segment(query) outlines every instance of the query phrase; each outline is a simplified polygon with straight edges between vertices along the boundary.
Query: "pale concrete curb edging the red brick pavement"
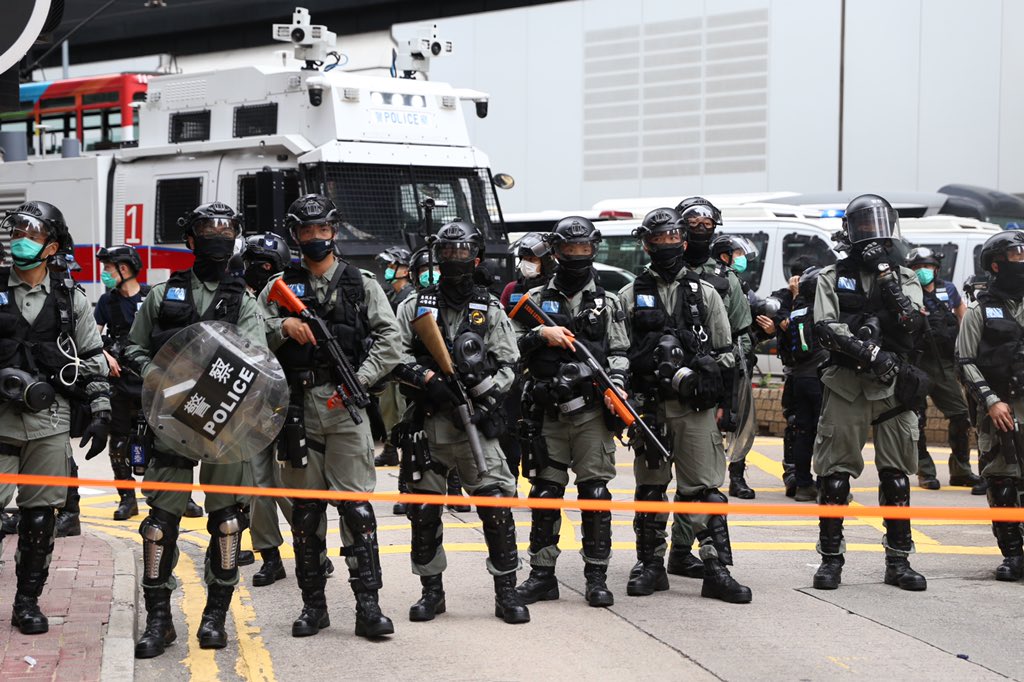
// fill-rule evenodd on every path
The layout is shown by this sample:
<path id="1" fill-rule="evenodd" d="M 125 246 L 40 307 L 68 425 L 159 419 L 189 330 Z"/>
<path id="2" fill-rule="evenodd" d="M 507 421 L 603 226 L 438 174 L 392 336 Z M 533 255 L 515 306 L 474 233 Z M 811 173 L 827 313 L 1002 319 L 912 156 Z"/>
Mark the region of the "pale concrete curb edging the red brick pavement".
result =
<path id="1" fill-rule="evenodd" d="M 103 637 L 100 679 L 103 682 L 132 682 L 135 678 L 135 615 L 138 611 L 135 547 L 102 532 L 88 532 L 110 545 L 114 555 L 111 619 Z"/>

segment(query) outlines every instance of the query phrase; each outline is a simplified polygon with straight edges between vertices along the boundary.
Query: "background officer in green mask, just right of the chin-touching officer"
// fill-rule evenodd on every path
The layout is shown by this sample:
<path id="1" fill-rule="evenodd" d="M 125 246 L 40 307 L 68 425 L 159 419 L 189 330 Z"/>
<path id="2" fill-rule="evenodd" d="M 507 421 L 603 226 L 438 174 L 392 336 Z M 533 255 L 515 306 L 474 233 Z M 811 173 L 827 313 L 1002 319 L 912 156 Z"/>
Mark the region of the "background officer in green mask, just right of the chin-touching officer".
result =
<path id="1" fill-rule="evenodd" d="M 928 247 L 912 249 L 907 255 L 907 267 L 918 274 L 928 309 L 930 335 L 926 335 L 918 359 L 920 367 L 932 380 L 929 395 L 935 407 L 942 411 L 949 422 L 949 484 L 971 488 L 972 495 L 984 495 L 981 476 L 971 471 L 971 421 L 968 418 L 964 389 L 956 380 L 953 349 L 961 319 L 967 313 L 967 304 L 952 283 L 939 279 L 942 254 Z M 929 340 L 928 337 L 931 337 Z M 925 427 L 928 423 L 928 404 L 920 407 L 920 437 L 918 439 L 918 480 L 929 491 L 939 489 L 935 462 L 928 453 Z"/>

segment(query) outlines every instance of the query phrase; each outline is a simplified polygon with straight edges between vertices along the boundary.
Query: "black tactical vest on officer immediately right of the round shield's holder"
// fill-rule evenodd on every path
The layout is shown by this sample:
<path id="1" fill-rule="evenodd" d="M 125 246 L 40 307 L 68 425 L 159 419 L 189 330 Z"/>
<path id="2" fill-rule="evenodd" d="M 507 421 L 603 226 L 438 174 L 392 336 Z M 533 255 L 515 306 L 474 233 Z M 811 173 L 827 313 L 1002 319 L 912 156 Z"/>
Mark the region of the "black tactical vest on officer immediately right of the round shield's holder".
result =
<path id="1" fill-rule="evenodd" d="M 281 276 L 292 293 L 328 324 L 345 357 L 353 368 L 358 369 L 370 354 L 370 346 L 373 344 L 370 318 L 367 316 L 367 292 L 359 268 L 339 260 L 323 303 L 316 300 L 313 288 L 309 285 L 308 271 L 290 265 Z M 281 310 L 281 315 L 298 316 L 285 309 Z M 313 371 L 330 376 L 333 371 L 326 350 L 311 344 L 298 344 L 287 339 L 275 354 L 286 374 Z"/>

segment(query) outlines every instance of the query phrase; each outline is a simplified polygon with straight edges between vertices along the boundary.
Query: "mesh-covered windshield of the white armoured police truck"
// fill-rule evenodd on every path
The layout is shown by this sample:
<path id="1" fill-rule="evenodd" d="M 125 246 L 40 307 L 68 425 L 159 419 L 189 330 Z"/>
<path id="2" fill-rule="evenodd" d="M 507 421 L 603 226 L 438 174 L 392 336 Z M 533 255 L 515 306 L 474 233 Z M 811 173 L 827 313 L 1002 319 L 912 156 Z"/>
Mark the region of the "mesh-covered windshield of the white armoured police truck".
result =
<path id="1" fill-rule="evenodd" d="M 425 199 L 437 204 L 430 233 L 460 219 L 475 224 L 488 241 L 505 236 L 486 168 L 324 163 L 304 173 L 305 186 L 324 187 L 337 205 L 339 240 L 401 244 L 406 232 L 419 235 L 423 228 Z"/>

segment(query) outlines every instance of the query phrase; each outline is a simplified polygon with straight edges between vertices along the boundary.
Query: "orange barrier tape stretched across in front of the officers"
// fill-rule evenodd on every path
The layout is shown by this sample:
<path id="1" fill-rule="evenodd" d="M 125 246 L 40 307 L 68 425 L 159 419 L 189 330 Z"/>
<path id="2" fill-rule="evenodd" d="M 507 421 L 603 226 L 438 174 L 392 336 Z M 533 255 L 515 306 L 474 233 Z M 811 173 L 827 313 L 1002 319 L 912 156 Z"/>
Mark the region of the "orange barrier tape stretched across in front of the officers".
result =
<path id="1" fill-rule="evenodd" d="M 71 478 L 66 476 L 35 476 L 0 474 L 0 484 L 87 485 L 124 489 L 167 491 L 171 493 L 201 492 L 207 495 L 238 495 L 267 498 L 303 498 L 331 502 L 369 500 L 370 502 L 404 502 L 426 505 L 476 505 L 479 507 L 510 507 L 522 509 L 579 509 L 581 511 L 627 511 L 656 514 L 722 514 L 732 516 L 808 516 L 871 517 L 892 519 L 941 519 L 954 521 L 1024 522 L 1020 507 L 849 507 L 845 505 L 731 505 L 721 502 L 637 502 L 634 500 L 552 500 L 541 498 L 490 498 L 417 493 L 347 493 L 342 491 L 306 491 L 293 487 L 253 487 L 251 485 L 214 485 L 211 483 L 171 483 L 137 480 L 106 480 L 103 478 Z"/>

